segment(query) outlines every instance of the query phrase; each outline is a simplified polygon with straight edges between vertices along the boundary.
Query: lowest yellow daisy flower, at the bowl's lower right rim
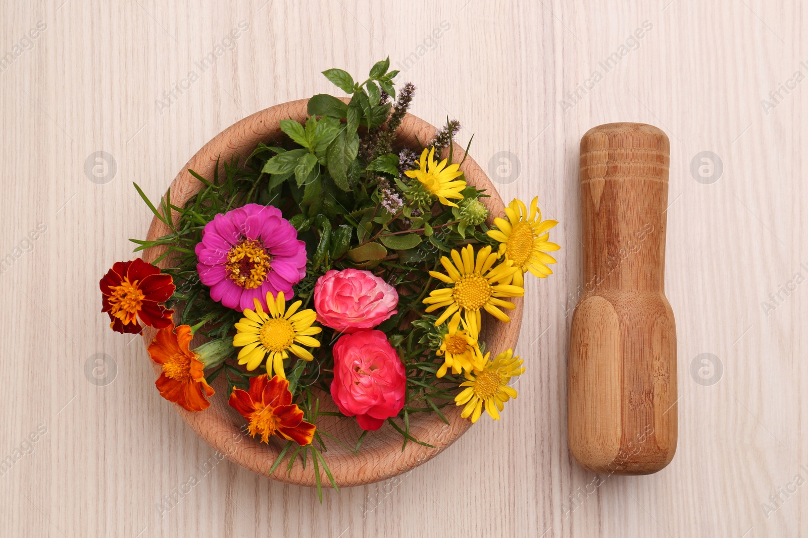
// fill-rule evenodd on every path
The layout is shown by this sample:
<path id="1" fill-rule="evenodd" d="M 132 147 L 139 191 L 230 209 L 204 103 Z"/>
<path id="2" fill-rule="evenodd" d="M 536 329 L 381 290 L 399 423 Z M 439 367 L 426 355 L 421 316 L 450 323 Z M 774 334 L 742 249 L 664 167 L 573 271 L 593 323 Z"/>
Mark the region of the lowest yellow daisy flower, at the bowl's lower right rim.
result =
<path id="1" fill-rule="evenodd" d="M 489 355 L 490 353 L 486 353 L 486 363 Z M 471 422 L 475 423 L 485 407 L 492 419 L 499 420 L 499 411 L 503 410 L 505 402 L 516 398 L 516 389 L 507 384 L 511 377 L 524 373 L 522 362 L 519 355 L 513 357 L 513 351 L 508 349 L 499 353 L 485 368 L 465 374 L 468 381 L 460 385 L 465 386 L 465 389 L 455 397 L 456 406 L 465 405 L 461 417 L 465 419 L 471 415 Z"/>

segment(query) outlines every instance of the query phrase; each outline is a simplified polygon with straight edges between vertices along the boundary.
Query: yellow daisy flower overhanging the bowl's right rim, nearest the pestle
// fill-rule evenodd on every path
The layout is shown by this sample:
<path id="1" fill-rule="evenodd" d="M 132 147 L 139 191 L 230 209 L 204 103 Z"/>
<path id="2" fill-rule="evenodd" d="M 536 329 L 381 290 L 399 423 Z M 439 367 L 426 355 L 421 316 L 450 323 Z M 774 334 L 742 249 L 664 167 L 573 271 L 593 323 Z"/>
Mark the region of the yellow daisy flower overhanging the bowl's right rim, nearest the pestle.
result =
<path id="1" fill-rule="evenodd" d="M 494 219 L 499 230 L 490 230 L 488 236 L 499 241 L 499 255 L 505 254 L 505 260 L 510 260 L 514 267 L 521 269 L 513 275 L 511 284 L 524 286 L 524 273 L 530 271 L 540 278 L 553 274 L 547 264 L 554 264 L 555 258 L 547 252 L 561 248 L 558 244 L 550 243 L 549 229 L 558 224 L 557 220 L 541 220 L 541 210 L 538 208 L 539 197 L 530 202 L 530 213 L 521 200 L 513 199 L 505 208 L 505 219 Z"/>

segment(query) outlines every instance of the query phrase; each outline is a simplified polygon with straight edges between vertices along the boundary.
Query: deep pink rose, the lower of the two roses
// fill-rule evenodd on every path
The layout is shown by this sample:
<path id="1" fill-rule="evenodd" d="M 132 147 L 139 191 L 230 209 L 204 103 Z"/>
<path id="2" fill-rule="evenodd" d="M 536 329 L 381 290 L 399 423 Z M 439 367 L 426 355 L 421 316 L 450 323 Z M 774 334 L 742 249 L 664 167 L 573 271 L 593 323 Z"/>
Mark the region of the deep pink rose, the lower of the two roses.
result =
<path id="1" fill-rule="evenodd" d="M 404 365 L 384 332 L 340 336 L 334 344 L 331 398 L 343 415 L 356 415 L 362 429 L 375 431 L 402 410 L 405 393 Z"/>

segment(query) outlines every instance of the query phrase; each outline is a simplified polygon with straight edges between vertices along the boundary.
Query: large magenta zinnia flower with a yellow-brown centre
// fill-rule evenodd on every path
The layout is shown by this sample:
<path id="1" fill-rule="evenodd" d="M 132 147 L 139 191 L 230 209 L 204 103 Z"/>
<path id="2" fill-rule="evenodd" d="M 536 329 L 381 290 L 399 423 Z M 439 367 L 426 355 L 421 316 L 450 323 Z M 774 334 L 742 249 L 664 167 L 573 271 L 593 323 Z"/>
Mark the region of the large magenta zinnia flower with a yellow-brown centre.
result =
<path id="1" fill-rule="evenodd" d="M 267 292 L 283 291 L 305 277 L 305 243 L 273 206 L 249 203 L 216 215 L 196 244 L 200 281 L 214 301 L 241 312 L 256 298 L 267 308 Z"/>

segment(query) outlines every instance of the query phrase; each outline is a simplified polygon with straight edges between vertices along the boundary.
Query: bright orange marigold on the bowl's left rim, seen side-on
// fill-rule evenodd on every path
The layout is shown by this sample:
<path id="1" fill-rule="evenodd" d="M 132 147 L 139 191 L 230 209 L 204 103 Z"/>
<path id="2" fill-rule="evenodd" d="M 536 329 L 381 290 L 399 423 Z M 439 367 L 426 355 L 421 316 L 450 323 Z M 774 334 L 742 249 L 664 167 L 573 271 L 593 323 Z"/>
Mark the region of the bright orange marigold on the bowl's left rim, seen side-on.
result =
<path id="1" fill-rule="evenodd" d="M 154 382 L 160 395 L 169 402 L 177 402 L 188 411 L 204 411 L 210 405 L 213 388 L 204 378 L 204 365 L 199 355 L 188 348 L 191 327 L 180 325 L 160 329 L 149 344 L 149 356 L 162 366 L 162 373 Z"/>

